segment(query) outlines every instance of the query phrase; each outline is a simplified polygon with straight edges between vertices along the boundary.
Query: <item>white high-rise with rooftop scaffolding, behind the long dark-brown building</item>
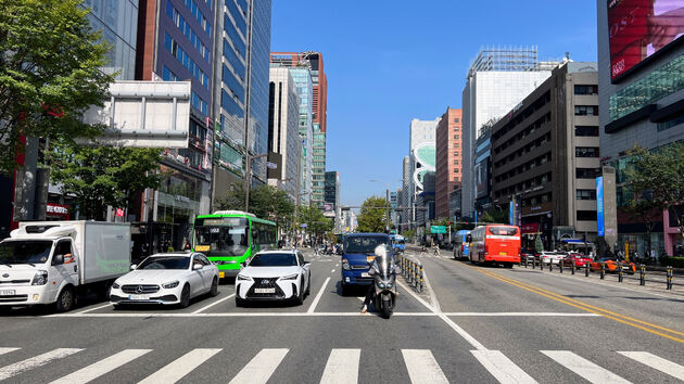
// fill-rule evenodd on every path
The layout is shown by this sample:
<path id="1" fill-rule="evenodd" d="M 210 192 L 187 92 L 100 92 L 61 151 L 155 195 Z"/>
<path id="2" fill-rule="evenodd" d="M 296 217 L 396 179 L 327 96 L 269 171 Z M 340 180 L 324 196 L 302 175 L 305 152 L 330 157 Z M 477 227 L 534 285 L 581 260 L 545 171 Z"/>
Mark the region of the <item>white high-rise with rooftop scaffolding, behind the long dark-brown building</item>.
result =
<path id="1" fill-rule="evenodd" d="M 474 216 L 473 154 L 480 129 L 514 108 L 555 65 L 539 62 L 536 48 L 481 49 L 470 64 L 463 91 L 463 216 Z"/>

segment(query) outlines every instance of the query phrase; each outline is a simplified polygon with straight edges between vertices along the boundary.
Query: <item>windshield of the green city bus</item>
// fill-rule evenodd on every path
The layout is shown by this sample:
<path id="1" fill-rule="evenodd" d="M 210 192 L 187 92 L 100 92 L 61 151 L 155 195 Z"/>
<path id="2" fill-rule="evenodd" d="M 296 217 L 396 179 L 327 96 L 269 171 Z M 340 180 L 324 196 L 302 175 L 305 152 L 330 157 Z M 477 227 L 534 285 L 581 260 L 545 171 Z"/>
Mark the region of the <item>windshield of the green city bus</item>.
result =
<path id="1" fill-rule="evenodd" d="M 248 251 L 248 221 L 243 218 L 198 219 L 194 226 L 195 251 L 206 256 L 242 256 Z"/>

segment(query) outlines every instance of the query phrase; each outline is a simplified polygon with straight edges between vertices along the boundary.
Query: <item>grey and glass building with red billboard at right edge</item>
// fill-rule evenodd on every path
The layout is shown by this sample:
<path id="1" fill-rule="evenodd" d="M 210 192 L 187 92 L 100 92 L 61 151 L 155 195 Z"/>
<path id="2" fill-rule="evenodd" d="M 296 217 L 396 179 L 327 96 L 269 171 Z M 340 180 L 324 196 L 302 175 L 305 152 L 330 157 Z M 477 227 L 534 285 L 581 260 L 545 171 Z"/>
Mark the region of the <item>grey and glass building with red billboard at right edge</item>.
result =
<path id="1" fill-rule="evenodd" d="M 649 35 L 651 28 L 645 27 L 661 17 L 668 20 L 668 12 L 681 8 L 681 1 L 597 0 L 600 157 L 603 165 L 615 168 L 617 184 L 616 201 L 605 201 L 618 213 L 617 239 L 607 244 L 617 245 L 613 252 L 646 255 L 650 244 L 657 256 L 684 255 L 675 217 L 683 207 L 656 215 L 650 239 L 643 222 L 624 215 L 633 200 L 625 175 L 631 161 L 628 151 L 635 144 L 654 150 L 684 140 L 684 37 L 677 28 Z M 613 28 L 616 24 L 620 28 Z M 606 213 L 609 209 L 605 207 Z"/>

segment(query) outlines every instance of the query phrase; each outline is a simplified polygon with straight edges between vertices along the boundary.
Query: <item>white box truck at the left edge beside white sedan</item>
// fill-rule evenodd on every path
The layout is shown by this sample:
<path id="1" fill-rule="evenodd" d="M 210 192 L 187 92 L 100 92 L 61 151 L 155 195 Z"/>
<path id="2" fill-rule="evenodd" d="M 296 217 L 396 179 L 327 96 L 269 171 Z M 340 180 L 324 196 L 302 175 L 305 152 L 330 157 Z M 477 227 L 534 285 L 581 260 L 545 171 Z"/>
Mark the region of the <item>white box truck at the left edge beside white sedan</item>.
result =
<path id="1" fill-rule="evenodd" d="M 0 306 L 54 304 L 68 311 L 78 294 L 106 297 L 130 271 L 130 223 L 21 222 L 0 242 Z"/>

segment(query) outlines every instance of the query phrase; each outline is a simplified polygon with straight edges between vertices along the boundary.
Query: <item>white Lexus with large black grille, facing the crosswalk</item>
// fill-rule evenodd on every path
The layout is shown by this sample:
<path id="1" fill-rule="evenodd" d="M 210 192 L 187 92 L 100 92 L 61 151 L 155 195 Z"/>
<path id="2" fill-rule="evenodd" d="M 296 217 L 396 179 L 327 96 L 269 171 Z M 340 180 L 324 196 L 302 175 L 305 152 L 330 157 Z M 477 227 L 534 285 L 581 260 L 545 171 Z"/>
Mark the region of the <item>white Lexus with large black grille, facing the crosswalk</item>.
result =
<path id="1" fill-rule="evenodd" d="M 311 292 L 311 263 L 299 251 L 256 254 L 236 279 L 236 305 L 245 300 L 304 302 Z"/>

